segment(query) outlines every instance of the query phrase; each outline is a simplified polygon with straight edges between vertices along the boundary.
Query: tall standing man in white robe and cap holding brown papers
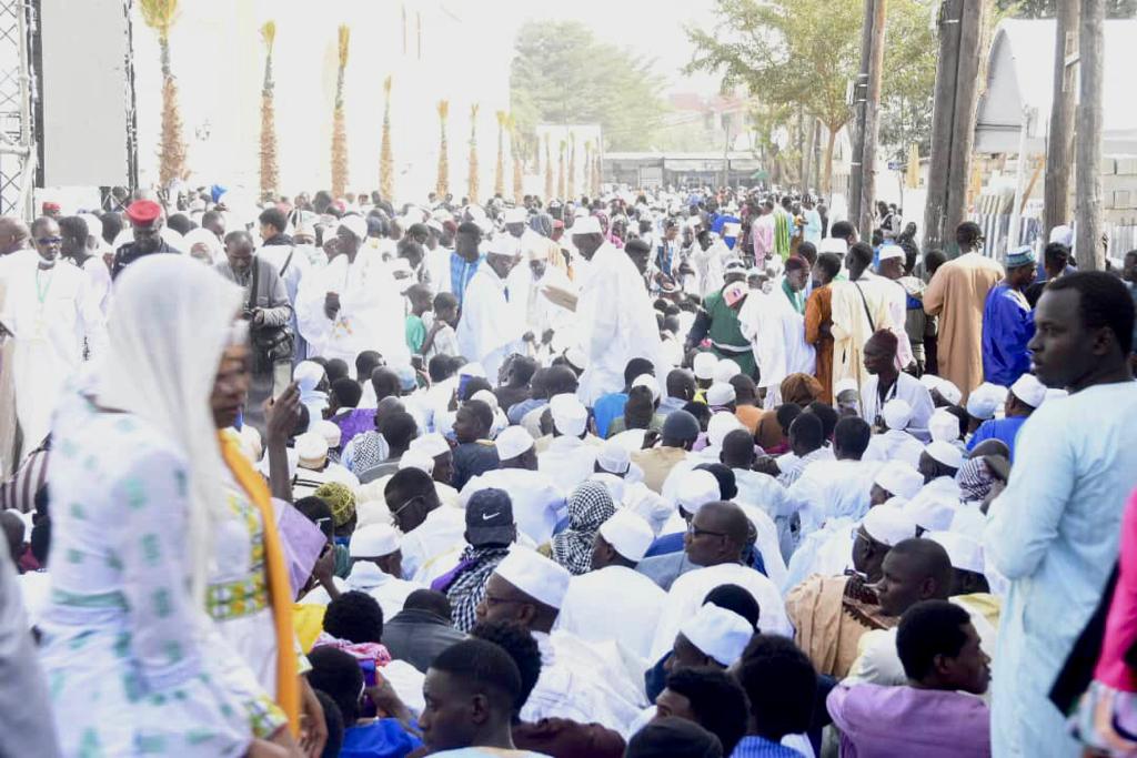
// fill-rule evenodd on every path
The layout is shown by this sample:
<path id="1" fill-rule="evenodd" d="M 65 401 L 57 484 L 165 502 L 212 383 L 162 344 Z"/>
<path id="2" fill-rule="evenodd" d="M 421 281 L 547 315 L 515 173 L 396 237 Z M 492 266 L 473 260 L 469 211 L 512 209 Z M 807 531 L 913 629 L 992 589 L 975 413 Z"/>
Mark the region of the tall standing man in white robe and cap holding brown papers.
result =
<path id="1" fill-rule="evenodd" d="M 578 218 L 573 244 L 588 261 L 576 303 L 581 348 L 586 356 L 578 395 L 586 405 L 624 386 L 632 358 L 647 358 L 656 376 L 666 375 L 655 310 L 636 264 L 604 240 L 595 216 Z"/>

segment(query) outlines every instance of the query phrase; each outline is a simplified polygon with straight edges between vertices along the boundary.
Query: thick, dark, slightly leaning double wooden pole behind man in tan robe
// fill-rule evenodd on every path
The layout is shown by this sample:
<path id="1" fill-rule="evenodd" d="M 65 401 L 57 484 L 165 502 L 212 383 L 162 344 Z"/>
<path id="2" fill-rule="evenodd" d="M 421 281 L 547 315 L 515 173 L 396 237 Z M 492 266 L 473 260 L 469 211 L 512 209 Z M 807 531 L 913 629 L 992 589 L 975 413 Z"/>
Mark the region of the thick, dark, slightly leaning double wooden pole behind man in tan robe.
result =
<path id="1" fill-rule="evenodd" d="M 924 250 L 954 239 L 966 210 L 971 149 L 979 102 L 979 49 L 990 0 L 944 0 L 939 9 L 939 60 L 932 110 Z"/>

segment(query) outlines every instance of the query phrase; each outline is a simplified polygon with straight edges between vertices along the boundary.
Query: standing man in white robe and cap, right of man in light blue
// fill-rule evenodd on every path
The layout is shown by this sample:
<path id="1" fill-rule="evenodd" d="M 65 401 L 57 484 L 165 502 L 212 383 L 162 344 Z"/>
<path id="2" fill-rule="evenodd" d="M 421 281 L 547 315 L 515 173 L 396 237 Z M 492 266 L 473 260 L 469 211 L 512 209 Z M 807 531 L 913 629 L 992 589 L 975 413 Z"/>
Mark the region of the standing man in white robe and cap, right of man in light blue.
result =
<path id="1" fill-rule="evenodd" d="M 509 305 L 512 297 L 506 277 L 517 264 L 517 241 L 500 234 L 490 243 L 485 265 L 470 280 L 458 320 L 458 349 L 468 360 L 482 365 L 490 383 L 497 384 L 507 356 L 522 350 L 524 324 Z"/>

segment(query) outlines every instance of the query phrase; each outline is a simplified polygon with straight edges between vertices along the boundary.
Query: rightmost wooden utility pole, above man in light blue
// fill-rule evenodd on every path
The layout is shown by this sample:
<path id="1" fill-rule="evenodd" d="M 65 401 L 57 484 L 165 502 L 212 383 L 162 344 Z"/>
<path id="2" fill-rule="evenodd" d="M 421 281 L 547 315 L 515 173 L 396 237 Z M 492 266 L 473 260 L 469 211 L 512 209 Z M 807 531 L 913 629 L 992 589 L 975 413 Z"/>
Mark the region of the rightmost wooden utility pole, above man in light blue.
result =
<path id="1" fill-rule="evenodd" d="M 1074 251 L 1082 270 L 1105 270 L 1102 249 L 1102 78 L 1105 0 L 1082 0 L 1079 33 L 1077 143 L 1078 238 Z"/>

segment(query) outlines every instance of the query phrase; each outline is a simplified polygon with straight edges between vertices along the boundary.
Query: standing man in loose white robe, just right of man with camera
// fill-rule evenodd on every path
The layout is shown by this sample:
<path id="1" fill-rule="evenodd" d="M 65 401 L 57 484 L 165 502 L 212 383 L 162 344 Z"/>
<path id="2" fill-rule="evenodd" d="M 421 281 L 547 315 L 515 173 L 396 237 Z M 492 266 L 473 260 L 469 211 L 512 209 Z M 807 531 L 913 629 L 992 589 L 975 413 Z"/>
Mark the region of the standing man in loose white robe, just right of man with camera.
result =
<path id="1" fill-rule="evenodd" d="M 349 369 L 364 350 L 377 350 L 388 365 L 410 360 L 402 295 L 379 253 L 362 247 L 366 239 L 367 223 L 345 216 L 334 258 L 304 277 L 296 302 L 310 355 L 340 358 Z"/>

